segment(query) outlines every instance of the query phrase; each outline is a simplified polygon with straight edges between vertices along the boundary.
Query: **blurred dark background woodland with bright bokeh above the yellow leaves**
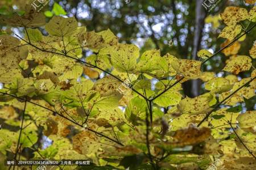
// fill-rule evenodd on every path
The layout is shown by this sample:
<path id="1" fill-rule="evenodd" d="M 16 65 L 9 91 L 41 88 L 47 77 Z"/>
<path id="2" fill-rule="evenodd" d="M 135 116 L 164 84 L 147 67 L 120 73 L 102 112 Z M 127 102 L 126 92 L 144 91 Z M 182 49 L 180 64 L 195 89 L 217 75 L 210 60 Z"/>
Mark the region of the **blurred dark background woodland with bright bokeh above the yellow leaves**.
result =
<path id="1" fill-rule="evenodd" d="M 32 2 L 1 0 L 0 14 L 23 14 L 26 4 Z M 243 0 L 229 0 L 220 1 L 213 10 L 207 12 L 201 5 L 202 2 L 203 0 L 50 0 L 42 11 L 48 20 L 53 15 L 75 16 L 80 25 L 86 25 L 88 31 L 99 32 L 109 28 L 119 37 L 120 42 L 134 43 L 141 48 L 141 52 L 160 49 L 162 55 L 170 53 L 178 58 L 198 59 L 198 50 L 208 49 L 213 53 L 224 42 L 224 39 L 218 39 L 218 35 L 225 27 L 220 13 L 226 6 L 240 6 L 247 10 L 253 7 Z M 244 24 L 243 28 L 246 28 L 249 23 Z M 23 28 L 10 28 L 1 23 L 0 28 L 1 33 L 23 31 Z M 249 54 L 255 35 L 256 29 L 253 29 L 241 43 L 238 54 Z M 218 54 L 204 65 L 203 71 L 213 71 L 217 76 L 225 76 L 226 73 L 221 70 L 226 59 L 228 57 L 224 54 Z M 238 76 L 244 78 L 249 73 L 250 71 Z M 200 80 L 189 80 L 183 83 L 184 95 L 200 95 L 204 92 L 201 87 L 203 83 Z M 255 99 L 247 102 L 253 104 Z"/>

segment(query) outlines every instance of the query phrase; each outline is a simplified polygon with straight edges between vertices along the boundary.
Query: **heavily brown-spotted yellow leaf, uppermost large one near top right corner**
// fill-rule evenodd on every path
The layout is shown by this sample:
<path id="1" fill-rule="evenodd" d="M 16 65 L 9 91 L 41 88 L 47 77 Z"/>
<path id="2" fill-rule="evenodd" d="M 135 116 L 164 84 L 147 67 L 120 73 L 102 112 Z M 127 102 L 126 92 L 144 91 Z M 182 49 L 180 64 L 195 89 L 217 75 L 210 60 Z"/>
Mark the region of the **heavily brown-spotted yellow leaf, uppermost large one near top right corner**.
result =
<path id="1" fill-rule="evenodd" d="M 248 18 L 248 12 L 245 8 L 229 6 L 221 14 L 221 18 L 226 25 L 236 25 L 236 23 Z"/>

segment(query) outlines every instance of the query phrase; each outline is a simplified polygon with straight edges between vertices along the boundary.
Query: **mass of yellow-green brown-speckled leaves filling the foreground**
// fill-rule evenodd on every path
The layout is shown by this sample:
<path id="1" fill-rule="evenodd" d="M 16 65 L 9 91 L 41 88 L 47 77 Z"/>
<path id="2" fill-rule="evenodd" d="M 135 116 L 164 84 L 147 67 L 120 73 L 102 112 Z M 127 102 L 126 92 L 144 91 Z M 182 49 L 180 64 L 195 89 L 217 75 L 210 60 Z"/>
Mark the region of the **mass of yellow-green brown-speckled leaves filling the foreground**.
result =
<path id="1" fill-rule="evenodd" d="M 0 17 L 23 28 L 22 36 L 0 35 L 0 165 L 86 159 L 92 169 L 254 167 L 255 111 L 244 105 L 255 97 L 255 45 L 238 55 L 236 39 L 242 22 L 255 22 L 255 8 L 230 6 L 221 14 L 225 77 L 204 71 L 216 55 L 206 49 L 198 60 L 141 52 L 110 29 L 88 31 L 75 17 L 56 16 L 66 14 L 58 5 L 53 13 L 45 22 L 28 6 Z M 196 97 L 184 95 L 182 83 L 192 79 L 204 81 Z M 42 137 L 51 145 L 42 146 Z"/>

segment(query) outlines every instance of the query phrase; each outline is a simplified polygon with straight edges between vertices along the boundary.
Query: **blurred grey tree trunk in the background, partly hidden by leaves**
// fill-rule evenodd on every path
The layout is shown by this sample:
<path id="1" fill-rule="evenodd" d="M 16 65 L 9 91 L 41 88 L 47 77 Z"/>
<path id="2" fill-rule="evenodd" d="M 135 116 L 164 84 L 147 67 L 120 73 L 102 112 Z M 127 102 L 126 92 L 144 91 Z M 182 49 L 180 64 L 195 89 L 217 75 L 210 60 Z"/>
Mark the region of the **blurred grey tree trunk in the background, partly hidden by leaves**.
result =
<path id="1" fill-rule="evenodd" d="M 196 1 L 196 16 L 195 16 L 195 32 L 193 39 L 193 50 L 192 50 L 192 59 L 198 59 L 197 52 L 201 47 L 201 38 L 204 29 L 204 19 L 206 16 L 206 12 L 204 7 L 202 6 L 204 0 Z M 199 79 L 192 80 L 191 85 L 191 94 L 192 97 L 200 95 L 200 86 L 201 82 Z"/>

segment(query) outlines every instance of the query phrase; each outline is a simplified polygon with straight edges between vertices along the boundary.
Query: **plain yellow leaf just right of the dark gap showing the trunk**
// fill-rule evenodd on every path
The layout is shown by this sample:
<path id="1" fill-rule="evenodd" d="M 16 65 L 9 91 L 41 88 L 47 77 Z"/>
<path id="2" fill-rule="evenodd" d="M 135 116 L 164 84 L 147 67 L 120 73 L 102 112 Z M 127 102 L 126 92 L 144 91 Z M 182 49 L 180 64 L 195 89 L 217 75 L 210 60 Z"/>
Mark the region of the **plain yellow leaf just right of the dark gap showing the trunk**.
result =
<path id="1" fill-rule="evenodd" d="M 231 88 L 232 85 L 230 85 L 229 80 L 222 77 L 213 78 L 209 80 L 209 82 L 205 83 L 205 90 L 218 94 L 229 91 Z"/>

